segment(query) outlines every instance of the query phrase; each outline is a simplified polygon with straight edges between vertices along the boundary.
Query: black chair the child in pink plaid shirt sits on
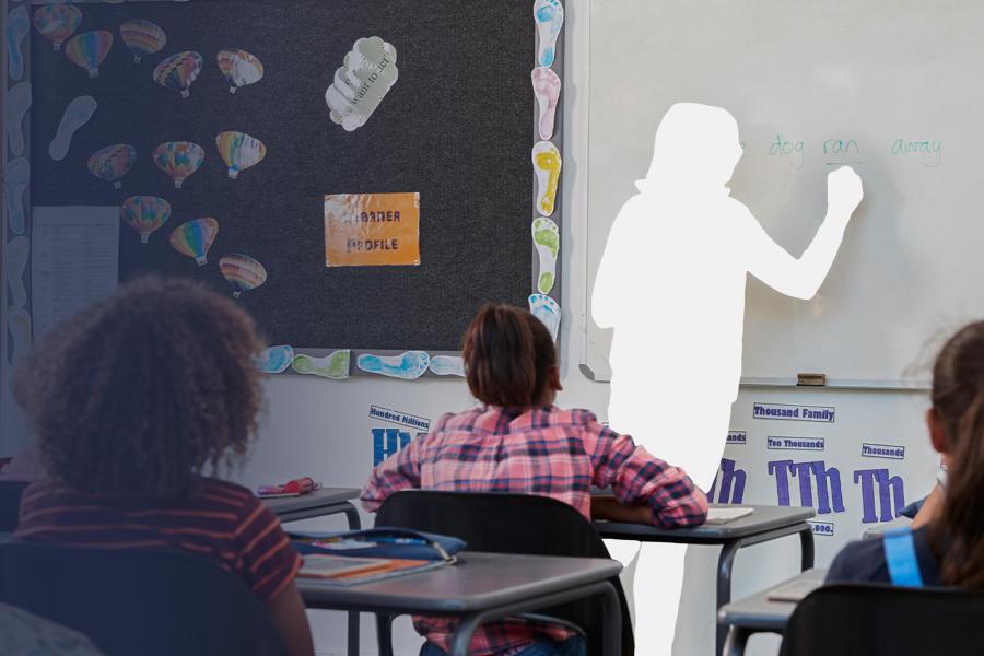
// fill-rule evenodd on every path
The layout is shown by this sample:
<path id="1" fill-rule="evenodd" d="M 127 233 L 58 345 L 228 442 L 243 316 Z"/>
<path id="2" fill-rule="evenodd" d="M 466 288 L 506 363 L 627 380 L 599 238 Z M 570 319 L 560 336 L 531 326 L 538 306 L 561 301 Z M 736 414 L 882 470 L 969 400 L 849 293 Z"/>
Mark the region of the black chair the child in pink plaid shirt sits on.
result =
<path id="1" fill-rule="evenodd" d="M 412 490 L 383 502 L 376 526 L 412 528 L 455 536 L 471 551 L 610 558 L 591 523 L 570 505 L 548 496 Z M 612 579 L 622 612 L 622 653 L 634 653 L 629 606 Z M 601 601 L 584 599 L 538 613 L 567 620 L 587 635 L 588 654 L 601 655 Z M 609 656 L 606 654 L 605 656 Z"/>

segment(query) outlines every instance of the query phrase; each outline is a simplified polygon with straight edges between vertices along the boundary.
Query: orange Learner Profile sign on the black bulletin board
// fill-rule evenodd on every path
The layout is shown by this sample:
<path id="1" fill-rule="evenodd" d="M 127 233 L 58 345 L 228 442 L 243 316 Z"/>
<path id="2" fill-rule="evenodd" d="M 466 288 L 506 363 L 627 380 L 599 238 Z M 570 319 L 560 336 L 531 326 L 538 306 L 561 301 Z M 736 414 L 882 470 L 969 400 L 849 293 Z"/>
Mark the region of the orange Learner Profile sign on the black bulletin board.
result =
<path id="1" fill-rule="evenodd" d="M 325 266 L 420 265 L 420 194 L 325 197 Z"/>

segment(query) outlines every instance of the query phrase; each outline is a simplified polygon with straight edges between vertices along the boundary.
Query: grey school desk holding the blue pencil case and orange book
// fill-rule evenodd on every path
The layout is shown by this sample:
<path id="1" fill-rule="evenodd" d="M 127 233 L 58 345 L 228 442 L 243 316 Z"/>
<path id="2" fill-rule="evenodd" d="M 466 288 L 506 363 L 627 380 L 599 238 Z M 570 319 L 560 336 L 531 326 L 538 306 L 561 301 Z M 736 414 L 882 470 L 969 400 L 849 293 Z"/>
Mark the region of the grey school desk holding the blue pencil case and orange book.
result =
<path id="1" fill-rule="evenodd" d="M 506 616 L 600 595 L 605 599 L 605 654 L 620 654 L 622 619 L 610 579 L 622 565 L 610 559 L 462 551 L 458 563 L 352 586 L 297 578 L 307 608 L 376 613 L 379 654 L 391 656 L 390 618 L 459 618 L 450 656 L 467 656 L 475 630 Z"/>

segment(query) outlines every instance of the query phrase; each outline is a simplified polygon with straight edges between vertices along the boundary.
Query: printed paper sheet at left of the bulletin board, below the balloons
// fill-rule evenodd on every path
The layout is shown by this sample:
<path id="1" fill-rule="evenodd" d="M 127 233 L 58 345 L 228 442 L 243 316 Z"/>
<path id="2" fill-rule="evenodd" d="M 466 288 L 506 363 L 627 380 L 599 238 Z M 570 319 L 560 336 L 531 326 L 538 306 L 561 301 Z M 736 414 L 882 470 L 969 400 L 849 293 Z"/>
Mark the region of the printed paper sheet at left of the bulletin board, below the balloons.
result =
<path id="1" fill-rule="evenodd" d="M 112 294 L 118 276 L 118 207 L 34 208 L 31 303 L 35 339 Z"/>

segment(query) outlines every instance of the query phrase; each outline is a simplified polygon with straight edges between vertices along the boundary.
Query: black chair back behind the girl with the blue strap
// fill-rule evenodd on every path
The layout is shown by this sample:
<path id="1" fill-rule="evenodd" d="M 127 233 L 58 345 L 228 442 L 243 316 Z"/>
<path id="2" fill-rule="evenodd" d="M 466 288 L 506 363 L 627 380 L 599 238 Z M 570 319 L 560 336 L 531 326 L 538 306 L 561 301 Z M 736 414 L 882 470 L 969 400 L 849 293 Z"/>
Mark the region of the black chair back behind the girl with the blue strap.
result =
<path id="1" fill-rule="evenodd" d="M 984 595 L 942 588 L 837 584 L 799 602 L 782 656 L 981 654 Z"/>

